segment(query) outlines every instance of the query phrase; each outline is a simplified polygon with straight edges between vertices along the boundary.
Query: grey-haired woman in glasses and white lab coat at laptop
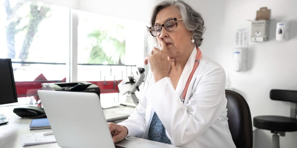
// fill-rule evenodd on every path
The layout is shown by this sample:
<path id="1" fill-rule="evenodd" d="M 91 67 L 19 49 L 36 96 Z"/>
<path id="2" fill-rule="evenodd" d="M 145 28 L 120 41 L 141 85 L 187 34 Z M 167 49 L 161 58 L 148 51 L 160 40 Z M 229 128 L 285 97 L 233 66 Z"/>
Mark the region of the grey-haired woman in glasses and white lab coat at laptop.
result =
<path id="1" fill-rule="evenodd" d="M 130 117 L 108 123 L 113 141 L 136 136 L 184 147 L 233 148 L 225 71 L 198 48 L 204 21 L 184 1 L 154 7 L 149 31 L 159 43 L 144 59 L 151 72 Z"/>

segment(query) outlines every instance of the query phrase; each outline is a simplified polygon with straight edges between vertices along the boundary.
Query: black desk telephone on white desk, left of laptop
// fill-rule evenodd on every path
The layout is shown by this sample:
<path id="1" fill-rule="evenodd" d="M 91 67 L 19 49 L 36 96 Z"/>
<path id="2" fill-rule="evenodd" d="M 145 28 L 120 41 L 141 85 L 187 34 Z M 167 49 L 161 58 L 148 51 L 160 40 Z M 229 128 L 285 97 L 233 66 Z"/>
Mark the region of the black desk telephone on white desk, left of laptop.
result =
<path id="1" fill-rule="evenodd" d="M 13 112 L 20 117 L 28 117 L 32 119 L 46 118 L 45 111 L 42 107 L 17 107 L 13 110 Z"/>

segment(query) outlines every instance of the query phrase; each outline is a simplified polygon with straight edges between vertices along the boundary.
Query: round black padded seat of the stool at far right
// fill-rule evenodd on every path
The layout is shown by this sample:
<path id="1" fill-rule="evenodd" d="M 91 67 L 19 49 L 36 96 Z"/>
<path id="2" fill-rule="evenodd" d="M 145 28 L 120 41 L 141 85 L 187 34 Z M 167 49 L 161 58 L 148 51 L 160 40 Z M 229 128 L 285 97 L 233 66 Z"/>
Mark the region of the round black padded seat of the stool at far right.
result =
<path id="1" fill-rule="evenodd" d="M 297 119 L 284 116 L 257 116 L 253 119 L 256 128 L 270 131 L 297 131 Z"/>

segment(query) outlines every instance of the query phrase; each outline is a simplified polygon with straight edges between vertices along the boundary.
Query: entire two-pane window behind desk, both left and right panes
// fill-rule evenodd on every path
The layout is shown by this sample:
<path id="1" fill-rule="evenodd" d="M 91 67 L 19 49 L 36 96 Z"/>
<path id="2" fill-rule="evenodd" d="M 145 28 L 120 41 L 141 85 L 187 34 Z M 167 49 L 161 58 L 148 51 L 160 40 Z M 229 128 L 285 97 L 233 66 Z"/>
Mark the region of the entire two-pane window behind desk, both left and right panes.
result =
<path id="1" fill-rule="evenodd" d="M 78 54 L 74 77 L 104 84 L 101 97 L 111 101 L 121 101 L 114 86 L 131 76 L 132 66 L 143 67 L 143 22 L 74 10 L 79 24 L 73 33 L 70 26 L 77 20 L 69 8 L 22 0 L 0 4 L 0 58 L 12 59 L 18 104 L 35 103 L 41 83 L 69 82 L 71 50 Z M 76 36 L 78 48 L 71 49 Z"/>

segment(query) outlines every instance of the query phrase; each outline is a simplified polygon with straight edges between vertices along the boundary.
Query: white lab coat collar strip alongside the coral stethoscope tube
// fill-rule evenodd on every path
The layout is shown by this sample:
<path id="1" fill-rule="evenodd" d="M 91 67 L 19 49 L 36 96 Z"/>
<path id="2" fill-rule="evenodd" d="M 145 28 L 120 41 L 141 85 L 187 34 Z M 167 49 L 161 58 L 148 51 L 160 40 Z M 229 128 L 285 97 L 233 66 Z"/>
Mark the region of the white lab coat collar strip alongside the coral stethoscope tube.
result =
<path id="1" fill-rule="evenodd" d="M 191 72 L 193 70 L 196 54 L 197 54 L 197 50 L 196 50 L 196 46 L 194 46 L 192 53 L 189 56 L 187 64 L 185 65 L 184 70 L 181 73 L 181 77 L 179 78 L 179 81 L 178 81 L 176 89 L 175 89 L 179 98 L 181 98 L 183 90 L 184 90 L 186 83 L 188 81 L 189 75 L 191 74 Z"/>

